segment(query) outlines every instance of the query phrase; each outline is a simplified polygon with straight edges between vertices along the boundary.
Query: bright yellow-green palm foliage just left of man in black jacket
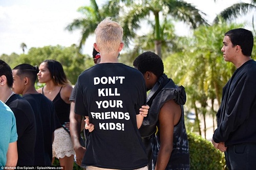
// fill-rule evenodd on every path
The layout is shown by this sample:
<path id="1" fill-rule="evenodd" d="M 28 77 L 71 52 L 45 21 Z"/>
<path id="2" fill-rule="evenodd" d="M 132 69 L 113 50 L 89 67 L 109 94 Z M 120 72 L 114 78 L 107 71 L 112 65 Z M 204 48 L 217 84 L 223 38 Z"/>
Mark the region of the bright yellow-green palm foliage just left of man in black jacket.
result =
<path id="1" fill-rule="evenodd" d="M 191 39 L 187 38 L 187 44 L 182 44 L 184 52 L 164 60 L 166 74 L 172 75 L 170 77 L 176 83 L 186 88 L 186 106 L 194 109 L 196 116 L 203 117 L 204 132 L 206 116 L 216 119 L 217 110 L 209 102 L 217 99 L 220 106 L 222 88 L 235 69 L 231 63 L 223 60 L 221 47 L 224 33 L 237 27 L 242 25 L 226 25 L 222 22 L 210 27 L 201 26 L 194 31 Z M 196 125 L 200 128 L 198 122 Z"/>

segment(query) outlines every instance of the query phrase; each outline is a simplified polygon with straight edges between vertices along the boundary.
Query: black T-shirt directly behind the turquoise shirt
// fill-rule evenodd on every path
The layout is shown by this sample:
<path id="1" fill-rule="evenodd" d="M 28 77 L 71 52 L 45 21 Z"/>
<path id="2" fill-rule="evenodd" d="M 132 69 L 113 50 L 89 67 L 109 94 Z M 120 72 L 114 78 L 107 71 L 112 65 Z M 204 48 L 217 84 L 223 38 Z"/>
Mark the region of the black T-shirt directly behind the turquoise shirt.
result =
<path id="1" fill-rule="evenodd" d="M 36 123 L 32 107 L 29 102 L 18 94 L 13 94 L 6 102 L 13 111 L 17 127 L 17 166 L 34 165 L 34 148 L 36 139 Z"/>

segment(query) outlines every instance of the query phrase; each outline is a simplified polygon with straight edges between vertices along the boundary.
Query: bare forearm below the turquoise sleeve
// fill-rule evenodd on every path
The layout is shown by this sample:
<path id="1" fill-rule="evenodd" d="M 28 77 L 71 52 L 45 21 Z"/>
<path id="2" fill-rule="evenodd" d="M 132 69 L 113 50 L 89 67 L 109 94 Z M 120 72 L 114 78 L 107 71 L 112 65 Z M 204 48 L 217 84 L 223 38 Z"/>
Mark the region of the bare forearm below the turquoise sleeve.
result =
<path id="1" fill-rule="evenodd" d="M 18 161 L 17 141 L 9 143 L 6 157 L 7 157 L 6 166 L 12 166 L 12 167 L 16 166 Z"/>

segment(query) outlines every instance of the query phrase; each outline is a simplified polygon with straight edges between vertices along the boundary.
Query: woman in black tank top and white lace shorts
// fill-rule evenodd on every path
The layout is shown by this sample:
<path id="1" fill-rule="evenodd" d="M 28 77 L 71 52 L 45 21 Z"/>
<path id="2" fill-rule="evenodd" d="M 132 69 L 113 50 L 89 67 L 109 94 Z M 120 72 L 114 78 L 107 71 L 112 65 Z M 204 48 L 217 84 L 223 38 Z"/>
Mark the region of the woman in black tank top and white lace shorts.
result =
<path id="1" fill-rule="evenodd" d="M 71 137 L 66 130 L 68 129 L 69 131 L 69 98 L 73 87 L 68 81 L 62 65 L 55 60 L 43 61 L 39 66 L 37 76 L 39 83 L 45 83 L 45 86 L 37 91 L 44 94 L 54 103 L 57 117 L 62 125 L 55 130 L 53 161 L 54 157 L 57 157 L 60 166 L 65 166 L 65 169 L 72 169 L 75 151 Z"/>

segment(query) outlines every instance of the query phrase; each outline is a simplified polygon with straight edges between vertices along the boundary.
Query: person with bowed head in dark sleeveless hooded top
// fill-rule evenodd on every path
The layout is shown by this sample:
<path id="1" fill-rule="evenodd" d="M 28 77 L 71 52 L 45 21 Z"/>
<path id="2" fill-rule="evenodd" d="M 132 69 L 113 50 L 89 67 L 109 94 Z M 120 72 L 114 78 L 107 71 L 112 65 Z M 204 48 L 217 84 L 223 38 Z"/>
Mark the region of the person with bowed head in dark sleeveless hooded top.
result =
<path id="1" fill-rule="evenodd" d="M 183 106 L 186 93 L 164 74 L 162 59 L 153 52 L 139 55 L 133 65 L 144 76 L 150 106 L 139 129 L 148 155 L 148 169 L 189 169 Z M 153 152 L 152 152 L 153 151 Z"/>

